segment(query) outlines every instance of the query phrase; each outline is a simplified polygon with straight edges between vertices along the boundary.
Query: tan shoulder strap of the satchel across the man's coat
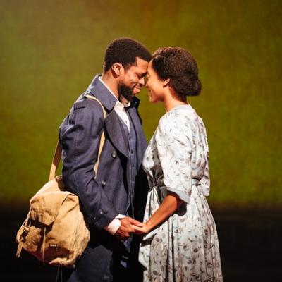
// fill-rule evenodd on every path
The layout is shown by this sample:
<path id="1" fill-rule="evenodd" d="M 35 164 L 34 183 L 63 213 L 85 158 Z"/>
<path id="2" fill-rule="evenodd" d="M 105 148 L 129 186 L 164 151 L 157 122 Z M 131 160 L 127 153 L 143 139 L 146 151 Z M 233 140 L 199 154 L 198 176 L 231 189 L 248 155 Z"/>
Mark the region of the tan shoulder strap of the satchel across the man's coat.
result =
<path id="1" fill-rule="evenodd" d="M 94 97 L 92 95 L 88 95 L 88 94 L 85 95 L 85 97 L 97 101 L 100 104 L 100 106 L 102 107 L 104 118 L 106 118 L 106 111 L 105 111 L 102 103 L 99 101 L 99 99 L 97 99 L 96 97 Z M 99 150 L 98 150 L 97 161 L 94 165 L 94 171 L 95 171 L 96 175 L 97 175 L 97 171 L 98 171 L 100 155 L 101 155 L 101 152 L 102 152 L 102 149 L 103 149 L 103 146 L 104 146 L 104 142 L 105 142 L 105 133 L 104 133 L 104 130 L 102 130 L 102 135 L 101 135 L 101 139 L 100 139 L 100 142 L 99 142 Z M 56 145 L 56 149 L 55 149 L 55 153 L 54 153 L 54 157 L 53 157 L 53 160 L 52 160 L 52 163 L 51 163 L 51 168 L 50 168 L 50 173 L 49 173 L 49 181 L 55 178 L 56 170 L 57 170 L 57 168 L 60 164 L 60 161 L 61 161 L 61 144 L 60 144 L 60 140 L 58 140 L 57 145 Z"/>

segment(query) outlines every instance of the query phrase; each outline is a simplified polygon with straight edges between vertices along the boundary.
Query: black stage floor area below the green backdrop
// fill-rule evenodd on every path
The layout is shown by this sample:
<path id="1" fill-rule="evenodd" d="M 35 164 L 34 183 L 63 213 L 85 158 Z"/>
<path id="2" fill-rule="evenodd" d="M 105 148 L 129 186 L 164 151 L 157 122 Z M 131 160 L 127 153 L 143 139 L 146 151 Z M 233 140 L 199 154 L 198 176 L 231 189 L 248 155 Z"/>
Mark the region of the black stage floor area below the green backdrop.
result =
<path id="1" fill-rule="evenodd" d="M 16 258 L 16 231 L 25 219 L 1 211 L 1 281 L 56 281 L 56 267 L 24 250 Z M 213 212 L 219 233 L 224 282 L 281 281 L 282 212 Z"/>

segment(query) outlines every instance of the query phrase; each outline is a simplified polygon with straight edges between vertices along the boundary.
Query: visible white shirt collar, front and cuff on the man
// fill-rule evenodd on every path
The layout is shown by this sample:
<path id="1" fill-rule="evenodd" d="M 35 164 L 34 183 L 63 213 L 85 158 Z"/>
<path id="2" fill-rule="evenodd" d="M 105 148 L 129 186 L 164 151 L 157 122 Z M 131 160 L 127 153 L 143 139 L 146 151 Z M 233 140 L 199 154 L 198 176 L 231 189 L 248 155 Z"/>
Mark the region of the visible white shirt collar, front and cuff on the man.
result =
<path id="1" fill-rule="evenodd" d="M 108 85 L 102 80 L 101 76 L 99 76 L 99 80 L 103 83 L 103 85 L 109 90 L 109 92 L 116 98 L 116 95 L 110 90 Z M 116 111 L 116 114 L 121 118 L 121 120 L 125 123 L 125 125 L 128 127 L 128 131 L 130 130 L 130 123 L 128 114 L 126 114 L 125 107 L 130 106 L 130 102 L 128 102 L 126 105 L 123 105 L 121 102 L 118 101 L 116 98 L 116 104 L 114 106 L 114 111 Z M 104 229 L 111 233 L 111 235 L 114 235 L 116 231 L 118 231 L 118 228 L 121 226 L 121 221 L 119 219 L 123 219 L 125 216 L 123 214 L 118 214 L 113 221 L 109 223 L 109 225 L 105 226 Z"/>

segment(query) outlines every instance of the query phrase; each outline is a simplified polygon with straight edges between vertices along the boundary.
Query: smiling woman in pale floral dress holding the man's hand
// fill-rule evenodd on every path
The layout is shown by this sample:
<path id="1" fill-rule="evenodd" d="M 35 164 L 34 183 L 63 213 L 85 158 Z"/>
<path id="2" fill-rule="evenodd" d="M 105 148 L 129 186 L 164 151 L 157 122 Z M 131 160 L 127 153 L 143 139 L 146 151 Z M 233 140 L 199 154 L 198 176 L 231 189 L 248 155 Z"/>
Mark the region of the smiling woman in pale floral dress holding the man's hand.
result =
<path id="1" fill-rule="evenodd" d="M 186 102 L 200 94 L 195 59 L 180 47 L 158 49 L 149 63 L 150 102 L 163 102 L 143 159 L 149 194 L 139 259 L 144 281 L 222 281 L 216 226 L 209 195 L 204 123 Z"/>

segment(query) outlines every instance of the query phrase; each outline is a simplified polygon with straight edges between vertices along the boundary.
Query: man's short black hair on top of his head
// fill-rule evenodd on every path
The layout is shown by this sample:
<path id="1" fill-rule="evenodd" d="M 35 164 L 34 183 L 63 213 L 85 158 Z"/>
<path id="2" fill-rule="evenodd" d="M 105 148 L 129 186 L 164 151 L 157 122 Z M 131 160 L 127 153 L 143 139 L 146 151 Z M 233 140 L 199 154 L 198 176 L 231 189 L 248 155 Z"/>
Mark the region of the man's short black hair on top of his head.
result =
<path id="1" fill-rule="evenodd" d="M 136 58 L 147 62 L 151 54 L 140 42 L 135 39 L 121 37 L 110 42 L 104 56 L 104 71 L 109 71 L 114 63 L 121 63 L 124 68 L 133 66 Z"/>

